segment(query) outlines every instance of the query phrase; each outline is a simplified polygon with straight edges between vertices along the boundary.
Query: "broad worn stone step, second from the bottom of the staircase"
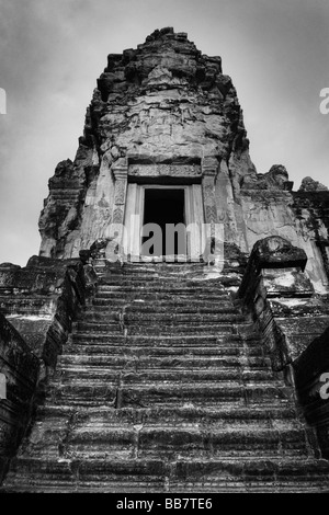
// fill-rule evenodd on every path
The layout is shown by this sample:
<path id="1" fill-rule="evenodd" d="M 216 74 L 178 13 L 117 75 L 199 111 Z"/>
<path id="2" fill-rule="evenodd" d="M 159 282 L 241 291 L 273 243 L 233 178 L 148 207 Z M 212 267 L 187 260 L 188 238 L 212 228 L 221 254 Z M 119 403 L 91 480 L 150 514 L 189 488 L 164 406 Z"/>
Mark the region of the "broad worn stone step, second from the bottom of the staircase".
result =
<path id="1" fill-rule="evenodd" d="M 56 421 L 54 421 L 56 422 Z M 61 451 L 67 455 L 84 458 L 103 458 L 116 456 L 118 459 L 138 457 L 168 457 L 190 459 L 207 457 L 240 458 L 253 456 L 308 456 L 309 449 L 304 428 L 286 424 L 286 427 L 272 428 L 256 425 L 245 427 L 207 427 L 192 426 L 123 426 L 115 424 L 90 424 L 79 421 L 69 425 L 66 432 L 63 423 L 53 427 L 39 426 L 31 434 L 31 444 L 25 448 L 34 457 L 42 457 L 47 451 L 60 458 Z"/>

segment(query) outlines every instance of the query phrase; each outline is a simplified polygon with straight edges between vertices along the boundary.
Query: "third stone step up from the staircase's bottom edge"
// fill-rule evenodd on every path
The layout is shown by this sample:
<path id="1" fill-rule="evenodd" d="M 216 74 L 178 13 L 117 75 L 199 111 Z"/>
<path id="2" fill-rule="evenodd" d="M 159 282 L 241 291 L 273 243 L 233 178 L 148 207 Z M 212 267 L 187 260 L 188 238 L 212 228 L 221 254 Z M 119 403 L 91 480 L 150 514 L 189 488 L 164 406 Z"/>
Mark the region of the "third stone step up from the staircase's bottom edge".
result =
<path id="1" fill-rule="evenodd" d="M 296 411 L 292 408 L 262 405 L 230 407 L 218 404 L 216 407 L 194 407 L 186 403 L 183 407 L 158 407 L 158 408 L 122 408 L 110 407 L 83 408 L 71 407 L 70 404 L 52 404 L 37 409 L 35 427 L 32 432 L 33 445 L 36 439 L 45 442 L 45 435 L 64 432 L 64 430 L 76 431 L 87 428 L 97 432 L 101 430 L 111 431 L 112 427 L 134 428 L 192 428 L 200 431 L 222 431 L 222 430 L 246 430 L 251 431 L 266 428 L 272 431 L 302 430 L 304 425 L 296 416 Z M 64 434 L 64 433 L 63 433 Z M 50 438 L 50 437 L 49 437 Z M 48 439 L 49 439 L 48 438 Z"/>

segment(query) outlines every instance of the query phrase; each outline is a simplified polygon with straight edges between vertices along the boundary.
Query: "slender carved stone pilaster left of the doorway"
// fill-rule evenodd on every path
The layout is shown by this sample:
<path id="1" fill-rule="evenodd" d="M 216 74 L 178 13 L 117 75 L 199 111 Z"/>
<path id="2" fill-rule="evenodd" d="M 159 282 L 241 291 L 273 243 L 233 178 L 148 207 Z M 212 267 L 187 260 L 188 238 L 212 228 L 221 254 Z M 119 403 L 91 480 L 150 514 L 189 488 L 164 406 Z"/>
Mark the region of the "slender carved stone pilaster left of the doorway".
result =
<path id="1" fill-rule="evenodd" d="M 118 159 L 112 165 L 112 172 L 115 179 L 114 183 L 114 205 L 112 211 L 112 222 L 110 228 L 111 241 L 106 247 L 105 256 L 110 261 L 123 260 L 123 239 L 124 239 L 124 216 L 127 194 L 128 180 L 128 160 Z"/>

